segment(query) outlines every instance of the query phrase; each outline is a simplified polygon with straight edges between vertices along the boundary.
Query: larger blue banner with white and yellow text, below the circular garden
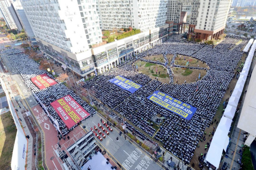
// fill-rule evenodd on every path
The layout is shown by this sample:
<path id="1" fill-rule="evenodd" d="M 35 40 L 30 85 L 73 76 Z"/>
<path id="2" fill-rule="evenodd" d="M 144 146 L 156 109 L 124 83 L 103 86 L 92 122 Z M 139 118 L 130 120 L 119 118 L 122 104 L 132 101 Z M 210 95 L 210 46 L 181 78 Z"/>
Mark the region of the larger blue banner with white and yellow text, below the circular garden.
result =
<path id="1" fill-rule="evenodd" d="M 190 120 L 197 109 L 160 91 L 155 91 L 153 94 L 148 96 L 147 99 L 171 111 L 172 113 L 176 113 L 186 120 Z"/>

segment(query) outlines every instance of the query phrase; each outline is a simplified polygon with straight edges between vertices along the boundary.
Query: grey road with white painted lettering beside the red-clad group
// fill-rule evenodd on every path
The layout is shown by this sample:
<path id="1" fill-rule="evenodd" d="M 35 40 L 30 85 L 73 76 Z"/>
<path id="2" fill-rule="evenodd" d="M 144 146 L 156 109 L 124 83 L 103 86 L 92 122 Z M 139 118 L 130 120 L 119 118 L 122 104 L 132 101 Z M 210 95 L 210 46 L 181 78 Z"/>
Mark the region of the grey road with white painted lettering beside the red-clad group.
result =
<path id="1" fill-rule="evenodd" d="M 94 126 L 98 127 L 100 119 L 103 118 L 99 116 L 99 114 L 96 114 L 82 122 L 82 125 L 86 126 L 86 130 L 89 131 L 90 127 L 93 129 Z M 103 124 L 101 123 L 101 125 Z M 103 125 L 103 127 L 106 126 Z M 102 131 L 102 129 L 100 130 Z M 142 168 L 144 170 L 163 170 L 163 168 L 159 164 L 154 163 L 153 159 L 151 159 L 142 149 L 134 145 L 128 139 L 125 140 L 123 133 L 119 136 L 119 130 L 113 128 L 113 132 L 110 132 L 109 130 L 108 132 L 110 134 L 106 136 L 102 142 L 100 142 L 99 139 L 96 140 L 99 141 L 100 145 L 107 150 L 123 168 L 126 170 L 141 170 Z M 119 138 L 119 142 L 117 142 L 116 137 Z"/>

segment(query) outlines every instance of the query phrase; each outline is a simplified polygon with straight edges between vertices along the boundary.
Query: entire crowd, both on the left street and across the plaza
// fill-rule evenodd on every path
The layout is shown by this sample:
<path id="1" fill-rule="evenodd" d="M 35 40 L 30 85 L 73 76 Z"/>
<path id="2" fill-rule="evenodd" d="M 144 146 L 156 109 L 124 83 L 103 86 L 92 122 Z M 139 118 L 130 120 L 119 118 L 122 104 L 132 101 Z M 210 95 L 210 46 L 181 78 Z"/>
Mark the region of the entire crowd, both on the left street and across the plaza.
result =
<path id="1" fill-rule="evenodd" d="M 84 82 L 82 86 L 92 92 L 91 94 L 102 102 L 103 107 L 107 105 L 111 108 L 111 111 L 121 113 L 126 119 L 149 136 L 154 136 L 155 139 L 162 142 L 166 150 L 169 150 L 180 159 L 183 157 L 185 163 L 189 164 L 200 136 L 203 135 L 205 128 L 211 124 L 221 103 L 221 99 L 226 93 L 230 81 L 235 76 L 234 70 L 243 56 L 241 48 L 246 44 L 247 40 L 243 40 L 240 44 L 235 45 L 237 42 L 239 42 L 238 39 L 226 38 L 219 45 L 213 47 L 212 45 L 186 42 L 183 40 L 168 40 L 148 51 L 138 54 L 137 57 L 130 59 L 129 62 L 121 63 L 117 68 L 113 68 L 102 75 L 98 75 Z M 39 70 L 39 64 L 25 54 L 18 54 L 16 52 L 6 51 L 6 54 L 16 54 L 12 55 L 10 59 L 20 72 L 23 82 L 38 97 L 38 101 L 44 104 L 47 112 L 58 121 L 64 135 L 69 133 L 74 127 L 67 129 L 64 122 L 50 105 L 51 102 L 70 94 L 88 113 L 94 114 L 96 112 L 90 105 L 63 84 L 57 84 L 39 90 L 32 83 L 32 77 L 45 73 L 52 79 L 54 77 L 48 74 L 47 71 Z M 159 54 L 163 54 L 163 57 L 167 61 L 166 63 L 160 64 L 169 70 L 170 84 L 162 83 L 156 79 L 151 79 L 145 74 L 138 73 L 135 69 L 136 66 L 133 65 L 133 62 L 143 59 L 143 57 Z M 172 67 L 175 57 L 168 63 L 167 54 L 173 54 L 175 57 L 177 55 L 186 55 L 200 59 L 209 65 L 209 70 L 197 82 L 181 85 L 173 84 L 170 67 Z M 117 75 L 131 79 L 143 87 L 131 94 L 109 81 Z M 197 108 L 192 119 L 183 119 L 177 114 L 148 100 L 147 97 L 156 90 Z M 93 101 L 96 102 L 96 105 L 102 105 L 97 104 L 97 101 L 94 99 Z M 160 125 L 160 129 L 157 132 L 151 121 L 154 116 L 165 118 L 165 121 Z M 128 122 L 125 122 L 125 124 L 132 133 L 143 140 L 153 143 L 149 137 L 128 124 Z"/>

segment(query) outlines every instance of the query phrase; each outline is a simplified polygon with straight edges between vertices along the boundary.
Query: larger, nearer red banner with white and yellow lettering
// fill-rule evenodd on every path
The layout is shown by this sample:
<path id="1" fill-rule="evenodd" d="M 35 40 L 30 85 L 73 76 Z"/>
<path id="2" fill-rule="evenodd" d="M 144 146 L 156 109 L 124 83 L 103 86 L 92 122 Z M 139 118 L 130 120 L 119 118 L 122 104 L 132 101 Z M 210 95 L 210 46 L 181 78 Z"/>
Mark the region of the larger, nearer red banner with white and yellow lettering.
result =
<path id="1" fill-rule="evenodd" d="M 52 102 L 51 105 L 69 129 L 90 115 L 70 95 Z"/>

